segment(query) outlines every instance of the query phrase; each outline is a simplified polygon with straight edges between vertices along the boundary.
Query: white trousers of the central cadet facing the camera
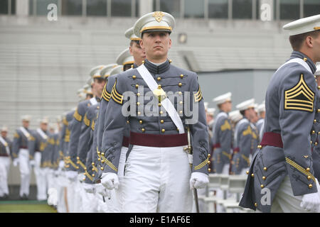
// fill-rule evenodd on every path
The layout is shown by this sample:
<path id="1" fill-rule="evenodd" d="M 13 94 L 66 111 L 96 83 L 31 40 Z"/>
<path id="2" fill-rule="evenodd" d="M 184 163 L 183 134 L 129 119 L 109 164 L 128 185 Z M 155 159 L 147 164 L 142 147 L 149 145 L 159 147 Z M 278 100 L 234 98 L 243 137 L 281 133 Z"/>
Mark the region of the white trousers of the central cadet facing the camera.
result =
<path id="1" fill-rule="evenodd" d="M 191 212 L 191 168 L 183 146 L 134 145 L 122 184 L 124 212 Z"/>

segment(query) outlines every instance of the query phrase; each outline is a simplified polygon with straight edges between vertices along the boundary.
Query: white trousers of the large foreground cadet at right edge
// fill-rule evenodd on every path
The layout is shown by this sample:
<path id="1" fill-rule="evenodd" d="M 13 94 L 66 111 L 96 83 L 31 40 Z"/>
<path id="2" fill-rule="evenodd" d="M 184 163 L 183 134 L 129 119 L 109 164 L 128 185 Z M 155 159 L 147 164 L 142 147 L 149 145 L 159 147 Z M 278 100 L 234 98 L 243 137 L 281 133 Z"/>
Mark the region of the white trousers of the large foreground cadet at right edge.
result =
<path id="1" fill-rule="evenodd" d="M 316 188 L 320 196 L 319 182 L 316 181 Z M 280 184 L 277 194 L 271 206 L 272 213 L 307 213 L 300 204 L 302 196 L 294 196 L 289 176 L 284 177 L 283 182 Z"/>

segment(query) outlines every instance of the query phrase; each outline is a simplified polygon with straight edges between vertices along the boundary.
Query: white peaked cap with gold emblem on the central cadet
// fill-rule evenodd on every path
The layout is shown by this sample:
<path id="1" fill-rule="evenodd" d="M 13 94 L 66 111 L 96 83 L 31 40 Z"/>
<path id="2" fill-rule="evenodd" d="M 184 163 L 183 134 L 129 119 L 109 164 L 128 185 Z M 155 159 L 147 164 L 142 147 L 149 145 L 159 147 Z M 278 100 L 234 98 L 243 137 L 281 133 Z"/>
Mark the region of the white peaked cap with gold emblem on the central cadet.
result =
<path id="1" fill-rule="evenodd" d="M 134 23 L 134 35 L 141 38 L 144 31 L 169 31 L 174 29 L 176 21 L 166 12 L 155 11 L 146 13 Z"/>

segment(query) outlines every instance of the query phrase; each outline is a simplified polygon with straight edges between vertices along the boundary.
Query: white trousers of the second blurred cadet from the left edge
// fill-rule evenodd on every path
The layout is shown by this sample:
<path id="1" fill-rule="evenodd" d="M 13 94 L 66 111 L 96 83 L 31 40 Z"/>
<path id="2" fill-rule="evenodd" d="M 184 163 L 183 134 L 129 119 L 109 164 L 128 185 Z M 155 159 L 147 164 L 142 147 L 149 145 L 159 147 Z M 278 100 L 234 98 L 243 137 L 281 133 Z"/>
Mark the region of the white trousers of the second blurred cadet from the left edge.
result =
<path id="1" fill-rule="evenodd" d="M 29 195 L 29 187 L 30 187 L 30 162 L 29 162 L 29 151 L 27 149 L 21 148 L 18 153 L 18 162 L 19 162 L 19 170 L 21 177 L 20 184 L 20 196 L 26 194 Z"/>

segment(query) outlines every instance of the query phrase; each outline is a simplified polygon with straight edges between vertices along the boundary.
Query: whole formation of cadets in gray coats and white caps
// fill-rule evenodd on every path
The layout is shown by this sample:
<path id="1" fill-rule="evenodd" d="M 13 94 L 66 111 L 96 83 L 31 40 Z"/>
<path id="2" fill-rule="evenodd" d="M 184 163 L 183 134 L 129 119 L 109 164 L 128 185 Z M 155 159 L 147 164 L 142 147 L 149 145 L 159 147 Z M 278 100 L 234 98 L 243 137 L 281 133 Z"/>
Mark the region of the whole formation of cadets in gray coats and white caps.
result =
<path id="1" fill-rule="evenodd" d="M 193 193 L 224 196 L 206 187 L 209 173 L 247 175 L 242 207 L 320 212 L 320 15 L 284 26 L 292 56 L 262 104 L 245 100 L 235 111 L 231 92 L 208 108 L 197 74 L 171 64 L 174 27 L 169 13 L 147 13 L 125 31 L 129 47 L 114 62 L 92 67 L 55 126 L 45 117 L 31 130 L 23 116 L 13 142 L 1 128 L 1 199 L 12 159 L 21 199 L 33 169 L 37 199 L 60 213 L 206 212 Z"/>

